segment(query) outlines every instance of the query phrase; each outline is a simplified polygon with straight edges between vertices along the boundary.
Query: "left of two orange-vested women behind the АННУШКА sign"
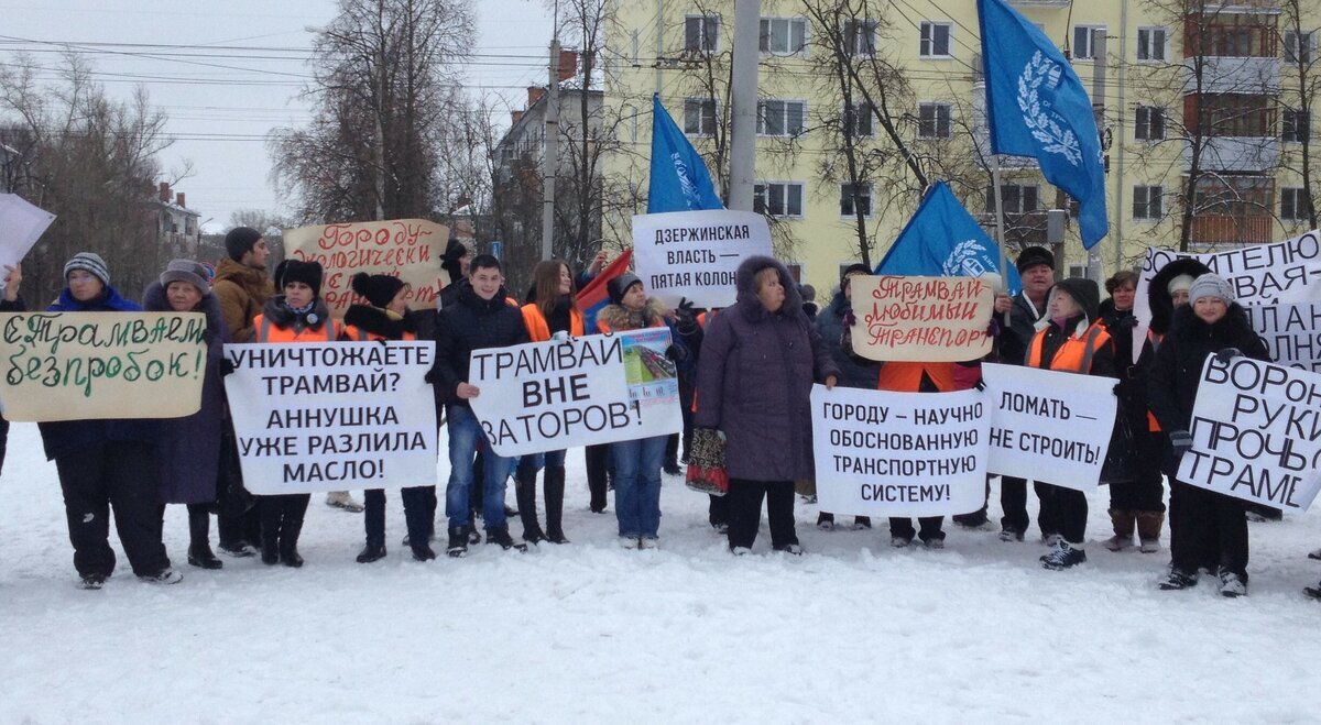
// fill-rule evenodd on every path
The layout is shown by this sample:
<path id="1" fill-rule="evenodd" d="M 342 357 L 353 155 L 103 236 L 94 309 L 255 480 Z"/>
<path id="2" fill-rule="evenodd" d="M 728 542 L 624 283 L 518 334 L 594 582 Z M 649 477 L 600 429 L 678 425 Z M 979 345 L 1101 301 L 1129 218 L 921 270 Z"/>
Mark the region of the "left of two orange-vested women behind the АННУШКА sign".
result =
<path id="1" fill-rule="evenodd" d="M 321 301 L 321 264 L 285 259 L 275 268 L 275 283 L 284 292 L 266 302 L 252 326 L 252 342 L 293 345 L 300 342 L 334 342 L 342 326 L 330 317 Z M 308 512 L 312 494 L 263 495 L 262 510 L 262 563 L 301 567 L 299 535 L 303 518 Z"/>

